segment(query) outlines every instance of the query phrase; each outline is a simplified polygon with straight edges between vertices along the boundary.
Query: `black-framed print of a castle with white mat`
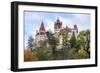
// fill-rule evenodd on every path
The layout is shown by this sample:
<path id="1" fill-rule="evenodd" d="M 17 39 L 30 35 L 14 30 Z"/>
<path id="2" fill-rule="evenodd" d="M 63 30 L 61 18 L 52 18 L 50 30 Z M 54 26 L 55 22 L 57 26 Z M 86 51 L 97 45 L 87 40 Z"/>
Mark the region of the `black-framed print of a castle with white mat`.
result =
<path id="1" fill-rule="evenodd" d="M 97 7 L 11 3 L 11 70 L 97 66 Z"/>

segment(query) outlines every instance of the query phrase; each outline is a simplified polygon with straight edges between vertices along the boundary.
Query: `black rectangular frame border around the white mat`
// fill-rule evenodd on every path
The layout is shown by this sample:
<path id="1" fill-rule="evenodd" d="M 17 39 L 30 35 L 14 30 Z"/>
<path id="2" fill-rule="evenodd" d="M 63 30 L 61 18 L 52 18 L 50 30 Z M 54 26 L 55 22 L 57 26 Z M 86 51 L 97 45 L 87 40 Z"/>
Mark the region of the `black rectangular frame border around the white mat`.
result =
<path id="1" fill-rule="evenodd" d="M 69 8 L 84 8 L 95 10 L 95 64 L 72 65 L 72 66 L 52 66 L 39 68 L 18 68 L 18 6 L 19 5 L 34 5 L 34 6 L 50 6 L 50 7 L 69 7 Z M 50 70 L 50 69 L 65 69 L 65 68 L 81 68 L 81 67 L 96 67 L 97 59 L 97 6 L 84 5 L 68 5 L 68 4 L 51 4 L 51 3 L 36 3 L 36 2 L 11 2 L 11 71 L 32 71 L 32 70 Z"/>

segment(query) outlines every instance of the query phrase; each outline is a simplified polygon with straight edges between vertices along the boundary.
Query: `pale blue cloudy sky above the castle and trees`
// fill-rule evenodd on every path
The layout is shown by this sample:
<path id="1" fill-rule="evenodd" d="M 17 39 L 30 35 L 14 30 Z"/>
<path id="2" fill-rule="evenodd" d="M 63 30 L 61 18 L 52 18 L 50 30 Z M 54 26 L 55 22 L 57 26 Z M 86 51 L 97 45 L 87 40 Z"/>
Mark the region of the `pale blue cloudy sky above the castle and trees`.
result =
<path id="1" fill-rule="evenodd" d="M 90 29 L 90 14 L 24 11 L 25 47 L 27 46 L 29 36 L 33 36 L 35 39 L 36 30 L 39 30 L 42 21 L 46 31 L 50 30 L 54 32 L 54 22 L 57 18 L 62 22 L 62 27 L 67 25 L 73 28 L 73 25 L 76 24 L 79 31 Z"/>

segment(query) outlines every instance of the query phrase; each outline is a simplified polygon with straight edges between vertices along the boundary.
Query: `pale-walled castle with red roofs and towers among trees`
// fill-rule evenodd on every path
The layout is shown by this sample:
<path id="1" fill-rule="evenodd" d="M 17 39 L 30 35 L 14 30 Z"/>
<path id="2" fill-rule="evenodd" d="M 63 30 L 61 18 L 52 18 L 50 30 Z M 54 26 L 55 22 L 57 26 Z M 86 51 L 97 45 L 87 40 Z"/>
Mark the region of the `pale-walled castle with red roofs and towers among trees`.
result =
<path id="1" fill-rule="evenodd" d="M 44 23 L 42 21 L 41 26 L 39 28 L 38 31 L 36 31 L 36 35 L 35 35 L 35 45 L 40 47 L 41 44 L 42 45 L 47 45 L 49 46 L 49 44 L 46 42 L 47 35 L 46 35 L 46 29 L 44 26 Z M 62 22 L 59 20 L 59 18 L 54 22 L 54 33 L 53 36 L 55 38 L 57 38 L 59 40 L 59 45 L 57 47 L 61 48 L 62 44 L 63 44 L 63 36 L 62 34 L 64 32 L 68 32 L 68 40 L 70 40 L 71 35 L 73 34 L 73 32 L 75 33 L 75 37 L 77 38 L 78 35 L 78 28 L 77 25 L 74 25 L 73 28 L 69 28 L 67 25 L 66 27 L 62 28 Z"/>

